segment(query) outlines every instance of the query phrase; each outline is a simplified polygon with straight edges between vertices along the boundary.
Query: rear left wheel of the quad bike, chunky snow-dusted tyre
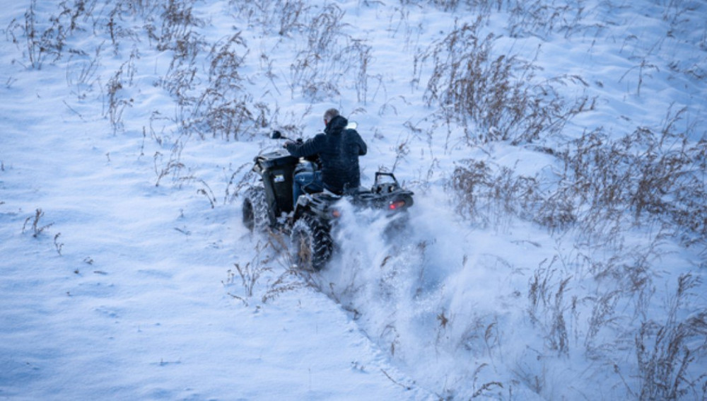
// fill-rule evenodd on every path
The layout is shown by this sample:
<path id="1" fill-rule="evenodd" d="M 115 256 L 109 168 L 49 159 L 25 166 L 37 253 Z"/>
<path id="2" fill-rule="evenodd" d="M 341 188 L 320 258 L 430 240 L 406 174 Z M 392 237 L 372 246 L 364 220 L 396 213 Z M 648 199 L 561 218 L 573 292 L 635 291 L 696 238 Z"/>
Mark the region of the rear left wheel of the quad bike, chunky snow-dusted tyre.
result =
<path id="1" fill-rule="evenodd" d="M 303 270 L 321 270 L 332 255 L 329 227 L 315 216 L 305 214 L 292 227 L 292 260 Z"/>

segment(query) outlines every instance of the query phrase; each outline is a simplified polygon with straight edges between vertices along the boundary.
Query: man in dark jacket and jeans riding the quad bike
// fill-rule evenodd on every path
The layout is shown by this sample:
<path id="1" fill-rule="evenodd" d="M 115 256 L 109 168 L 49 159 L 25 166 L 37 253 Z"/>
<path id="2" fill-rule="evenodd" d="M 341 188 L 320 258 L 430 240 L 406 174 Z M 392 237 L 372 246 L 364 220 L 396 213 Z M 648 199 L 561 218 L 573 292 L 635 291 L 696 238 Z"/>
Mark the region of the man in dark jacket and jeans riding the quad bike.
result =
<path id="1" fill-rule="evenodd" d="M 323 188 L 334 194 L 344 194 L 361 186 L 361 171 L 358 156 L 366 154 L 366 142 L 355 129 L 346 129 L 349 120 L 339 115 L 336 109 L 324 114 L 324 134 L 317 134 L 303 143 L 287 142 L 285 148 L 292 156 L 319 155 L 321 170 L 314 173 L 298 173 L 295 176 L 293 200 L 302 193 L 318 192 Z"/>

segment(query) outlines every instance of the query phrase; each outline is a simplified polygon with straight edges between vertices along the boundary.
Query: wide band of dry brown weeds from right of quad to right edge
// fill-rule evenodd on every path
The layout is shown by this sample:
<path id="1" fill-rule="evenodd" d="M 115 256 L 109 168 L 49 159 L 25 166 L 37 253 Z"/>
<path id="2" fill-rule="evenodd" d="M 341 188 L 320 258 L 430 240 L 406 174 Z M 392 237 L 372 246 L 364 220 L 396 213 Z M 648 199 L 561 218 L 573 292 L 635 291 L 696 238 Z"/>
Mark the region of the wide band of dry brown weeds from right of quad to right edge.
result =
<path id="1" fill-rule="evenodd" d="M 457 162 L 450 188 L 460 212 L 484 225 L 515 214 L 551 231 L 578 227 L 586 236 L 667 223 L 686 243 L 707 238 L 707 141 L 690 141 L 691 126 L 678 129 L 683 112 L 669 111 L 662 127 L 638 127 L 619 139 L 601 129 L 585 132 L 567 151 L 552 152 L 562 172 L 555 182 L 465 160 Z"/>

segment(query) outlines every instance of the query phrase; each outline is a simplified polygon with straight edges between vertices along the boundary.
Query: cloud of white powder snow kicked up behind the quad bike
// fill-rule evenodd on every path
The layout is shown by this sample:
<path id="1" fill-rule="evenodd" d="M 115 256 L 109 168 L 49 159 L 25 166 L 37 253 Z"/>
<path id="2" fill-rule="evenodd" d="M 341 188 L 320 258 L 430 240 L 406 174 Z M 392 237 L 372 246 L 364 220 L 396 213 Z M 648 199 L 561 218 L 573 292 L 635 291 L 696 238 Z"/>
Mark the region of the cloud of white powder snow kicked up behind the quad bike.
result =
<path id="1" fill-rule="evenodd" d="M 493 233 L 460 224 L 443 199 L 419 197 L 397 226 L 378 211 L 344 204 L 334 231 L 339 247 L 315 281 L 440 397 L 503 397 L 510 384 L 498 378 L 510 373 L 501 366 L 501 337 L 515 334 L 499 326 L 522 320 L 512 305 L 525 278 L 496 256 L 503 252 Z"/>

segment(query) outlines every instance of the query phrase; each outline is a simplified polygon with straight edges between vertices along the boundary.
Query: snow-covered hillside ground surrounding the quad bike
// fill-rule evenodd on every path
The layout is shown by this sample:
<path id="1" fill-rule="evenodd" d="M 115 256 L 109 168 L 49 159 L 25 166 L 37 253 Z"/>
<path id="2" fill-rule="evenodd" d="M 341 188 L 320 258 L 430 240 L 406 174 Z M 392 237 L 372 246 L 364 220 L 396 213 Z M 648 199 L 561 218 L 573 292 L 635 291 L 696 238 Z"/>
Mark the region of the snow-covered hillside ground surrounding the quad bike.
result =
<path id="1" fill-rule="evenodd" d="M 552 226 L 455 190 L 471 160 L 493 190 L 559 193 L 597 129 L 704 149 L 707 4 L 630 3 L 0 1 L 0 399 L 703 399 L 704 153 L 674 175 L 696 180 L 692 231 L 572 200 L 591 194 Z M 428 82 L 465 49 L 440 44 L 478 16 L 493 59 L 593 106 L 518 142 L 445 120 Z M 363 184 L 394 170 L 416 203 L 392 240 L 344 214 L 305 277 L 239 194 L 269 130 L 310 136 L 329 107 L 368 143 Z"/>

